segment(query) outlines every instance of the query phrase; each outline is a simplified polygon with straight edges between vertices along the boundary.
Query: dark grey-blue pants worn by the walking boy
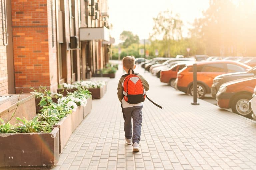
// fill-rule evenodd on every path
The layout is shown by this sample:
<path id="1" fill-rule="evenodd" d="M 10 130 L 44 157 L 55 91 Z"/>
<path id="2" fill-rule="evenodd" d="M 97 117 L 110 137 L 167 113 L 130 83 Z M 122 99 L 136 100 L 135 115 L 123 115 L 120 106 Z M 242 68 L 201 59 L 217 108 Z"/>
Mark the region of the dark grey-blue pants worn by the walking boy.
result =
<path id="1" fill-rule="evenodd" d="M 139 143 L 140 141 L 142 107 L 143 106 L 133 106 L 129 108 L 123 108 L 125 137 L 127 139 L 132 138 L 132 143 Z"/>

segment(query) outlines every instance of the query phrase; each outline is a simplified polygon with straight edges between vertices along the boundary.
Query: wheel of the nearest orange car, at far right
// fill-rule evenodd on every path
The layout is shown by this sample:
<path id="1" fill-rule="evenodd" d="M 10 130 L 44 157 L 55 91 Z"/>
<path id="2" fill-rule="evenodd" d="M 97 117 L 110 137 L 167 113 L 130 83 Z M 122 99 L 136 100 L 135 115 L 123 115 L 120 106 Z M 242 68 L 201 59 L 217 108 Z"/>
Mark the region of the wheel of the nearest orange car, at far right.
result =
<path id="1" fill-rule="evenodd" d="M 252 118 L 252 109 L 249 105 L 249 100 L 251 100 L 252 95 L 241 94 L 237 96 L 232 102 L 232 111 L 239 115 L 247 118 Z"/>

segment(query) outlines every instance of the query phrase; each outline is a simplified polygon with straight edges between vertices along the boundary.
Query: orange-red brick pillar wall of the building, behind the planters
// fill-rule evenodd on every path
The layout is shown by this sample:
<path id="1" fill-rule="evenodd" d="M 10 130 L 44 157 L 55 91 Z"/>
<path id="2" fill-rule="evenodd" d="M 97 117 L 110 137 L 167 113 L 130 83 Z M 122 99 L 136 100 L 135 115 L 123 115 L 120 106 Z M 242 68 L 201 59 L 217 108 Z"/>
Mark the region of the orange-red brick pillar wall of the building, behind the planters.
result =
<path id="1" fill-rule="evenodd" d="M 30 87 L 50 87 L 51 77 L 51 89 L 56 89 L 56 44 L 52 47 L 50 0 L 12 0 L 12 25 L 16 93 L 23 88 L 29 92 Z"/>

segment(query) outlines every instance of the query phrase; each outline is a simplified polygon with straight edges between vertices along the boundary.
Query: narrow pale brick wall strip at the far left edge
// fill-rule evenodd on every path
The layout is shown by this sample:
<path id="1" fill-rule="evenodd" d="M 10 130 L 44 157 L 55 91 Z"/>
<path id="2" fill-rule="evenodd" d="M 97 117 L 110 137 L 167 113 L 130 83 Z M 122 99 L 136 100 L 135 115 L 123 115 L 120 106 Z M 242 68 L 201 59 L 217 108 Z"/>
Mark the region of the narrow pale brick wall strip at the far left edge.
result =
<path id="1" fill-rule="evenodd" d="M 0 4 L 0 10 L 1 8 Z M 0 13 L 0 18 L 2 18 L 2 13 Z M 6 46 L 3 45 L 2 36 L 2 22 L 0 22 L 0 95 L 8 93 Z"/>

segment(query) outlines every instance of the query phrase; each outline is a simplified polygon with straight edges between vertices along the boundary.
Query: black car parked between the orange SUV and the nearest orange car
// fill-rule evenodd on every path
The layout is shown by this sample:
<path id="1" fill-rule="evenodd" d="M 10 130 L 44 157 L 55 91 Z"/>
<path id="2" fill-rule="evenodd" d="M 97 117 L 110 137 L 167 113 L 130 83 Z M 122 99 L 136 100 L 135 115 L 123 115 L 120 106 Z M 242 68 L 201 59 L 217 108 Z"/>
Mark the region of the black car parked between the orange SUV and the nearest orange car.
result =
<path id="1" fill-rule="evenodd" d="M 213 84 L 211 87 L 211 96 L 212 98 L 216 98 L 216 94 L 223 83 L 238 80 L 242 78 L 253 77 L 256 75 L 256 67 L 248 70 L 247 72 L 235 72 L 235 73 L 228 73 L 222 74 L 213 79 Z"/>

